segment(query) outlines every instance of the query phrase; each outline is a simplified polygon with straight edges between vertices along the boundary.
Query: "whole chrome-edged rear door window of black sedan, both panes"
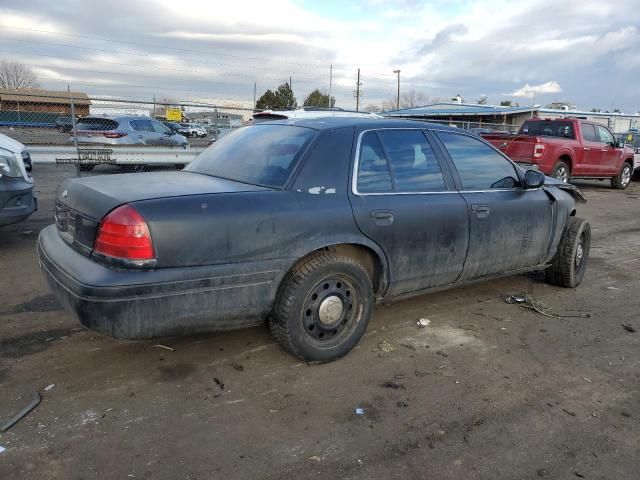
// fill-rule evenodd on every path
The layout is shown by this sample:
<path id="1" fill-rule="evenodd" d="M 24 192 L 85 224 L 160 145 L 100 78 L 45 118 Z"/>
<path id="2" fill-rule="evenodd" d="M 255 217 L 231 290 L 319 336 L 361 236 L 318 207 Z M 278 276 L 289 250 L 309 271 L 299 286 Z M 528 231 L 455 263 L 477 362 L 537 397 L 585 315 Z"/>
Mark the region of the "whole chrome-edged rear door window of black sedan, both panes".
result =
<path id="1" fill-rule="evenodd" d="M 420 130 L 380 130 L 362 139 L 360 193 L 419 193 L 446 190 L 435 152 Z"/>

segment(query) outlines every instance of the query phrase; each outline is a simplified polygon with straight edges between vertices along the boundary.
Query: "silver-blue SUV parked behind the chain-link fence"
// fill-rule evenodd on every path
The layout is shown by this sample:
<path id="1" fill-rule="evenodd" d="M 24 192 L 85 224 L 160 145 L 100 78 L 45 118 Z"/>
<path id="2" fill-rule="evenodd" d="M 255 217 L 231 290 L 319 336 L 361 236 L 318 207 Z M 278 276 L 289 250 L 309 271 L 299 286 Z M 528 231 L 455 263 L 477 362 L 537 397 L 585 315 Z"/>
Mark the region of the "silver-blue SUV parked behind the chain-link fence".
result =
<path id="1" fill-rule="evenodd" d="M 188 146 L 184 136 L 173 133 L 162 122 L 149 117 L 84 117 L 78 121 L 76 130 L 79 144 Z M 73 141 L 73 135 L 71 140 Z"/>

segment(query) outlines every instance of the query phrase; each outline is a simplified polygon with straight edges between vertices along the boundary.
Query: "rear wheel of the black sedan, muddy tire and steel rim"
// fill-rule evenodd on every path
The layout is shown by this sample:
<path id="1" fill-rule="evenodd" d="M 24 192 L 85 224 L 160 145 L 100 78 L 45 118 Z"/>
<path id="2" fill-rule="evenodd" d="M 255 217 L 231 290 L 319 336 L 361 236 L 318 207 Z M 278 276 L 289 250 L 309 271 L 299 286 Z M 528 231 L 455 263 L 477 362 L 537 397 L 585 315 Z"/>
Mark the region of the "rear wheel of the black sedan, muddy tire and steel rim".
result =
<path id="1" fill-rule="evenodd" d="M 321 252 L 287 274 L 269 326 L 292 355 L 307 362 L 330 362 L 358 343 L 373 303 L 371 278 L 362 265 L 347 256 Z"/>

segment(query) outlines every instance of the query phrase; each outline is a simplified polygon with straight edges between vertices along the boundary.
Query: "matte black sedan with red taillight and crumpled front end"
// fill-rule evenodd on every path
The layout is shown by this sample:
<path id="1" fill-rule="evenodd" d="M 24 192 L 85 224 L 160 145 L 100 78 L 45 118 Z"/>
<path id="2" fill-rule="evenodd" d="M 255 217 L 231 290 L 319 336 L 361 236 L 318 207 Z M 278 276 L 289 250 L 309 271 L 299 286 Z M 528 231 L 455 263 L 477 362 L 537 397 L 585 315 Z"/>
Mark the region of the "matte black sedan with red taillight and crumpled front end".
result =
<path id="1" fill-rule="evenodd" d="M 66 181 L 40 233 L 47 281 L 123 338 L 269 319 L 293 355 L 345 355 L 376 302 L 543 270 L 576 287 L 590 226 L 572 185 L 479 137 L 371 118 L 237 129 L 184 171 Z"/>

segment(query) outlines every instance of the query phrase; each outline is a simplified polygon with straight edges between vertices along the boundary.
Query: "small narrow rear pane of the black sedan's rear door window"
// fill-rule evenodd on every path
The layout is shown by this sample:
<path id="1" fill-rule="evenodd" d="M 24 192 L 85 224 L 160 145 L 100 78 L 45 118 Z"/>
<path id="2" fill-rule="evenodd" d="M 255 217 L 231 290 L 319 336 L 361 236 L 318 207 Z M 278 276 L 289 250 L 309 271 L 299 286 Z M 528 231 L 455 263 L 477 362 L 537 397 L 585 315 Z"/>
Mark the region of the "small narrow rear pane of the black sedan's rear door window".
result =
<path id="1" fill-rule="evenodd" d="M 361 193 L 386 193 L 393 189 L 387 159 L 374 132 L 365 133 L 362 138 L 357 186 Z"/>

